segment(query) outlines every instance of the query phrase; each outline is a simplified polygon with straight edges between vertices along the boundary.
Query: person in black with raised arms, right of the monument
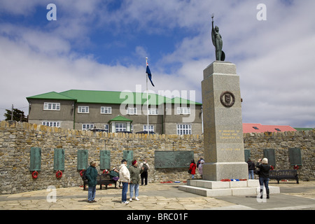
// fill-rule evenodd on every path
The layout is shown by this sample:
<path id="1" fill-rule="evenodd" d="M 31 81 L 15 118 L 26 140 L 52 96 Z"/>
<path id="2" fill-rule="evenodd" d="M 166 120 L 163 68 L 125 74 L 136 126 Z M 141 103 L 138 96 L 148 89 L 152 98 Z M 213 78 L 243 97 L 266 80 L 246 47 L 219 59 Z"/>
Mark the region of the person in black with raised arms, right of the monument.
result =
<path id="1" fill-rule="evenodd" d="M 262 162 L 260 164 L 260 162 Z M 272 169 L 270 165 L 268 165 L 268 159 L 263 158 L 262 160 L 259 159 L 256 167 L 260 169 L 260 174 L 259 174 L 259 185 L 260 185 L 260 199 L 262 199 L 262 193 L 264 189 L 264 185 L 266 188 L 266 193 L 267 193 L 267 199 L 269 199 L 269 170 Z"/>

